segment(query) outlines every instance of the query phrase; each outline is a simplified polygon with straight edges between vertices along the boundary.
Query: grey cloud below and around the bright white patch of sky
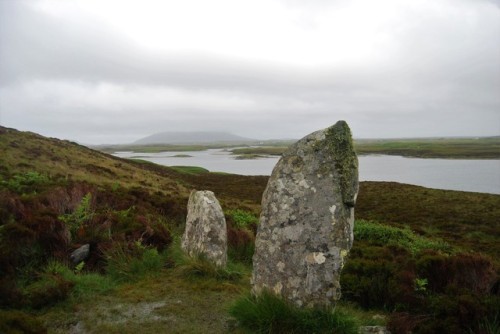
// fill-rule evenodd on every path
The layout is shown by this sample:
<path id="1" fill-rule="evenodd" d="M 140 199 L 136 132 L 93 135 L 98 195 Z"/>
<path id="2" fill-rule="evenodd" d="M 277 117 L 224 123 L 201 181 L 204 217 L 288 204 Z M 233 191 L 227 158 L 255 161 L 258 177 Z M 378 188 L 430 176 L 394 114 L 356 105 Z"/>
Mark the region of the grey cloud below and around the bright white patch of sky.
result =
<path id="1" fill-rule="evenodd" d="M 500 12 L 482 3 L 491 10 L 473 7 L 472 22 L 420 13 L 382 59 L 299 67 L 147 52 L 105 25 L 4 0 L 0 123 L 89 143 L 169 129 L 299 137 L 341 118 L 358 137 L 500 134 Z"/>

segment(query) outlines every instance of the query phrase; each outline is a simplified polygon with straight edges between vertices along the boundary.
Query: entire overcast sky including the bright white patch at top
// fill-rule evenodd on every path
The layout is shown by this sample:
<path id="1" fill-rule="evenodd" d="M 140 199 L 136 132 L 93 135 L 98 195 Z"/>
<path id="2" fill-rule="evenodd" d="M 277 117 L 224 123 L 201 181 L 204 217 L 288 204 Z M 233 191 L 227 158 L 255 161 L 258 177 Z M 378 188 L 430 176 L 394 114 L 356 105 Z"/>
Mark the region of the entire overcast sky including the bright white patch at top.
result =
<path id="1" fill-rule="evenodd" d="M 499 0 L 0 0 L 0 125 L 500 135 Z"/>

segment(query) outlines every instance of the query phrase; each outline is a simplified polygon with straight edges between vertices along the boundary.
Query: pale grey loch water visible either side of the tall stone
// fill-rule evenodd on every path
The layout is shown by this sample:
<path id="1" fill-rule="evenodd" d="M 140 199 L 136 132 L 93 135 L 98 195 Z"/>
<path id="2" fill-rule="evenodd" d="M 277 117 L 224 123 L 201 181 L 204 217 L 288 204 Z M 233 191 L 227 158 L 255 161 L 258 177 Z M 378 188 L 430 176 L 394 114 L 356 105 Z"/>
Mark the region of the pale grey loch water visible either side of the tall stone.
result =
<path id="1" fill-rule="evenodd" d="M 199 166 L 211 172 L 271 175 L 279 157 L 238 160 L 224 149 L 197 152 L 116 152 L 164 166 Z M 189 155 L 189 157 L 176 157 Z M 359 156 L 361 181 L 394 181 L 435 189 L 500 194 L 500 160 L 421 159 L 390 155 Z"/>

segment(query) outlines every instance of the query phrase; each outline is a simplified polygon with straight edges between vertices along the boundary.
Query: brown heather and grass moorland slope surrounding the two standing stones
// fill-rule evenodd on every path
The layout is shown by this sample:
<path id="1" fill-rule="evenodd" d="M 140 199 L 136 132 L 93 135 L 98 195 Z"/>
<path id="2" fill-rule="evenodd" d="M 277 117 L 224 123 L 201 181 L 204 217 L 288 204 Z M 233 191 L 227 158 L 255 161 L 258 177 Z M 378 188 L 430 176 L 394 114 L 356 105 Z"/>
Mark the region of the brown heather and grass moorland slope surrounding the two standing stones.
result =
<path id="1" fill-rule="evenodd" d="M 6 128 L 0 152 L 0 332 L 255 332 L 228 309 L 250 288 L 267 177 L 174 170 Z M 225 211 L 226 270 L 179 251 L 191 189 L 214 191 Z M 393 333 L 497 333 L 499 208 L 498 195 L 361 183 L 341 314 Z M 90 257 L 72 264 L 86 243 Z M 260 314 L 271 319 L 260 330 L 278 332 L 280 316 Z"/>

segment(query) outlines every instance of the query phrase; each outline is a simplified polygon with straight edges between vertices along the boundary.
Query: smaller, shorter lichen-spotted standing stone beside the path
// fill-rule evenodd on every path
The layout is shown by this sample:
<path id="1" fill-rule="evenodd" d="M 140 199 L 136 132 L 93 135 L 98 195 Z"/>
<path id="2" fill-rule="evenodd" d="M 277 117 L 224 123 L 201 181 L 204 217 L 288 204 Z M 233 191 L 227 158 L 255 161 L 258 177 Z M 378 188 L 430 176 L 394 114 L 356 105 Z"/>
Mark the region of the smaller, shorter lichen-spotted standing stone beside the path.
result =
<path id="1" fill-rule="evenodd" d="M 189 195 L 181 246 L 190 256 L 201 255 L 217 266 L 226 266 L 226 219 L 213 192 L 193 190 Z"/>

